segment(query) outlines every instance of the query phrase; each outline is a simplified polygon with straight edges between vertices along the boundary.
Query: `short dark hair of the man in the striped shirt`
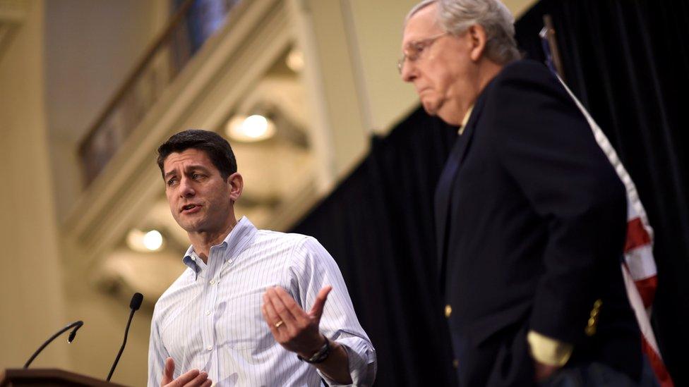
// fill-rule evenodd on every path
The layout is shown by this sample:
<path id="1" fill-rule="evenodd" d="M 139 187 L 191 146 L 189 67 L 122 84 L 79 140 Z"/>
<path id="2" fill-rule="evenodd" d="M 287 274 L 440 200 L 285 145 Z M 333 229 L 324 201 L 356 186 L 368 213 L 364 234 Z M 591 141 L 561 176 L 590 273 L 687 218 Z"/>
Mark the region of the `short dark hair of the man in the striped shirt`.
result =
<path id="1" fill-rule="evenodd" d="M 167 156 L 174 152 L 184 152 L 186 149 L 198 149 L 205 152 L 220 176 L 227 179 L 236 172 L 236 159 L 229 142 L 215 132 L 209 130 L 188 129 L 173 135 L 158 147 L 158 168 L 163 178 L 165 171 L 163 164 Z"/>

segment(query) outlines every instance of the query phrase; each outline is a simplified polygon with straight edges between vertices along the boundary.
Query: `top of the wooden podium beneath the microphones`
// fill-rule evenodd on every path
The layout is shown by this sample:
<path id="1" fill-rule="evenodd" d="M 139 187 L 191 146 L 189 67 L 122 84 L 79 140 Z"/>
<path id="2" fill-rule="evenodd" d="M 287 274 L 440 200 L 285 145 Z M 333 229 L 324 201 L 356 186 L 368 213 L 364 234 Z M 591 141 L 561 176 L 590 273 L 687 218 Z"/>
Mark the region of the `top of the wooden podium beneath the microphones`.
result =
<path id="1" fill-rule="evenodd" d="M 75 374 L 54 368 L 8 368 L 0 370 L 0 387 L 125 387 L 121 384 L 112 383 L 90 376 Z"/>

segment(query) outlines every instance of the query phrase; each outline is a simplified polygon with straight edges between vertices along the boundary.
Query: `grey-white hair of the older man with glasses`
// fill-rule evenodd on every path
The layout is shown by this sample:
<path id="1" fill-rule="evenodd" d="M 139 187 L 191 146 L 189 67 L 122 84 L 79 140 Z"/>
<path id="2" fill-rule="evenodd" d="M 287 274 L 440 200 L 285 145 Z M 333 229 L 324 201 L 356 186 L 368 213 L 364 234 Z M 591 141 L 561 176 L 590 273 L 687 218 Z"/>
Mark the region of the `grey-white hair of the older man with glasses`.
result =
<path id="1" fill-rule="evenodd" d="M 521 58 L 515 41 L 515 18 L 500 0 L 424 0 L 409 11 L 405 25 L 421 9 L 438 4 L 438 25 L 458 36 L 472 25 L 486 30 L 486 56 L 498 64 Z"/>

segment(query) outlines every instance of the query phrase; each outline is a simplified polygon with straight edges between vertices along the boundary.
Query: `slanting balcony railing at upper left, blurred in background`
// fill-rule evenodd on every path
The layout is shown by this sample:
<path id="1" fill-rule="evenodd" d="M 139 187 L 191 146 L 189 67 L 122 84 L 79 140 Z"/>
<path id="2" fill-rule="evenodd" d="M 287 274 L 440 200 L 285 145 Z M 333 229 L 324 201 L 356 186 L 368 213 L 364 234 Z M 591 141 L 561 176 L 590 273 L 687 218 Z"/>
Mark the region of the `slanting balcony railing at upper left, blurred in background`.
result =
<path id="1" fill-rule="evenodd" d="M 124 144 L 206 39 L 222 27 L 241 0 L 176 1 L 179 8 L 151 44 L 79 145 L 85 185 L 89 185 Z"/>

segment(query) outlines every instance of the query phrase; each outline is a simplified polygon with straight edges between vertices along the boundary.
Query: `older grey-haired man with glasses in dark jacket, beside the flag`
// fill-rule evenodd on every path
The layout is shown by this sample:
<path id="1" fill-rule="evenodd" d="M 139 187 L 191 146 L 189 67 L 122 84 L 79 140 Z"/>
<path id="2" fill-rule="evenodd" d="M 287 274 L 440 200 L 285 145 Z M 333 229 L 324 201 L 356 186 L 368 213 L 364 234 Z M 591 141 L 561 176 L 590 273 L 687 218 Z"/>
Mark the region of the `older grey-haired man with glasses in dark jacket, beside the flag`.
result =
<path id="1" fill-rule="evenodd" d="M 623 184 L 513 35 L 498 0 L 430 0 L 409 13 L 402 42 L 402 78 L 459 127 L 435 203 L 457 375 L 462 386 L 635 386 Z"/>

